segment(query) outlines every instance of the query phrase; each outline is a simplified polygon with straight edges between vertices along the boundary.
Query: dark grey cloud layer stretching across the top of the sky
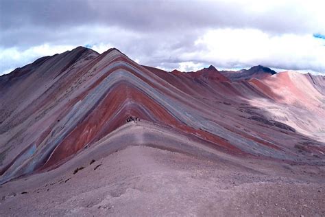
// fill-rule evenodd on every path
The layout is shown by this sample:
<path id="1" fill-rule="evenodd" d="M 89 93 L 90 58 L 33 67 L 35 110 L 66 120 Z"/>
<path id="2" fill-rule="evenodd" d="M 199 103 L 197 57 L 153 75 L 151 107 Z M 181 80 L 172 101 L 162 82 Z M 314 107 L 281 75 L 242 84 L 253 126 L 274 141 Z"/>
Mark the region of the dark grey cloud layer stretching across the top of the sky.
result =
<path id="1" fill-rule="evenodd" d="M 308 14 L 290 10 L 287 5 L 261 14 L 245 8 L 240 1 L 227 2 L 2 0 L 1 46 L 53 41 L 59 38 L 56 34 L 60 36 L 71 27 L 94 24 L 175 34 L 215 27 L 254 27 L 275 34 L 316 28 L 311 21 L 306 22 Z"/>

